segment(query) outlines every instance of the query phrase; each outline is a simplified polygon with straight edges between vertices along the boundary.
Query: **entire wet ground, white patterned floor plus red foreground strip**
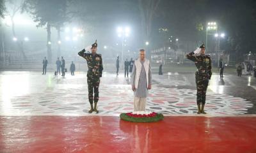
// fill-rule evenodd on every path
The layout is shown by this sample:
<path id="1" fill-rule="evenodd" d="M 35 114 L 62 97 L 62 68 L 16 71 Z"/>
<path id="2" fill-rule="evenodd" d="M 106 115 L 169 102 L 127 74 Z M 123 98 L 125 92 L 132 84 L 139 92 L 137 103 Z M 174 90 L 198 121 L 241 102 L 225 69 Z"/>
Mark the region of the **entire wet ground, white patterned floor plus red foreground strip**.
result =
<path id="1" fill-rule="evenodd" d="M 146 109 L 164 114 L 154 123 L 118 117 L 133 110 L 130 82 L 104 72 L 89 114 L 84 72 L 1 71 L 0 152 L 256 152 L 255 78 L 214 74 L 197 115 L 193 73 L 154 74 Z"/>

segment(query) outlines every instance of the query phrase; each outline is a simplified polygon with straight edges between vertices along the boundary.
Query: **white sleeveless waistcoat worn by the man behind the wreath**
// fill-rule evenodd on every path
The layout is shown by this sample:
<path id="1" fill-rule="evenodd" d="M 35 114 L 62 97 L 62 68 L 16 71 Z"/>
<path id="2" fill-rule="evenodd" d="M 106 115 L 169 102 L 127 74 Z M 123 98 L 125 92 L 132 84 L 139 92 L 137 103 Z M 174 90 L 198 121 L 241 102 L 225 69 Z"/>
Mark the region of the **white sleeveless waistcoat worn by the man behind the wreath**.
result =
<path id="1" fill-rule="evenodd" d="M 135 75 L 134 85 L 135 85 L 135 88 L 138 89 L 138 84 L 139 84 L 139 80 L 140 80 L 140 73 L 141 73 L 141 68 L 142 68 L 140 59 L 137 59 L 134 62 L 134 64 L 136 66 L 136 75 Z M 145 68 L 145 71 L 146 71 L 147 87 L 148 87 L 148 71 L 149 71 L 149 61 L 148 61 L 148 59 L 145 59 L 145 62 L 144 62 L 143 65 L 144 65 L 144 68 Z"/>

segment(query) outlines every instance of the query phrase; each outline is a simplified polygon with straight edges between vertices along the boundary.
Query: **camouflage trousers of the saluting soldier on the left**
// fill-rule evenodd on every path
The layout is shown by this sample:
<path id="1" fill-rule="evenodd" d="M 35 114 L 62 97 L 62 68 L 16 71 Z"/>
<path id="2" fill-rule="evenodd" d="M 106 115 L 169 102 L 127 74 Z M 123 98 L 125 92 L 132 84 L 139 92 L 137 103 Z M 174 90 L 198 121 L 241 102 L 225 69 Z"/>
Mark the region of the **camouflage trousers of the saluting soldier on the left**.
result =
<path id="1" fill-rule="evenodd" d="M 88 84 L 88 98 L 89 102 L 92 104 L 93 99 L 94 103 L 99 101 L 99 85 L 100 85 L 100 78 L 90 78 L 87 77 L 87 84 Z M 94 98 L 93 98 L 93 91 L 94 91 Z"/>

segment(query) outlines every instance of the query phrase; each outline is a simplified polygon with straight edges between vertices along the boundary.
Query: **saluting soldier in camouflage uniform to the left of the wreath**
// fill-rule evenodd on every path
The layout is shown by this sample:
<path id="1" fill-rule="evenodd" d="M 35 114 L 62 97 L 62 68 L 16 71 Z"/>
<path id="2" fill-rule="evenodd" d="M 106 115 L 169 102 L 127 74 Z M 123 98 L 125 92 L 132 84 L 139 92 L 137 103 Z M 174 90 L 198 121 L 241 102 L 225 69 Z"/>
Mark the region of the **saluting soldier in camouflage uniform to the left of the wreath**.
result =
<path id="1" fill-rule="evenodd" d="M 97 103 L 99 101 L 99 85 L 100 85 L 100 77 L 102 77 L 102 57 L 100 54 L 96 54 L 97 52 L 97 40 L 93 43 L 91 48 L 92 53 L 85 52 L 83 49 L 78 53 L 81 57 L 84 57 L 87 61 L 88 71 L 87 71 L 87 84 L 88 84 L 88 98 L 91 105 L 91 109 L 88 111 L 92 113 L 95 111 L 99 113 L 97 110 Z M 94 108 L 93 108 L 93 90 L 94 90 Z"/>

